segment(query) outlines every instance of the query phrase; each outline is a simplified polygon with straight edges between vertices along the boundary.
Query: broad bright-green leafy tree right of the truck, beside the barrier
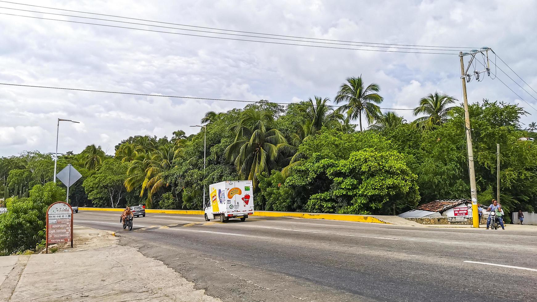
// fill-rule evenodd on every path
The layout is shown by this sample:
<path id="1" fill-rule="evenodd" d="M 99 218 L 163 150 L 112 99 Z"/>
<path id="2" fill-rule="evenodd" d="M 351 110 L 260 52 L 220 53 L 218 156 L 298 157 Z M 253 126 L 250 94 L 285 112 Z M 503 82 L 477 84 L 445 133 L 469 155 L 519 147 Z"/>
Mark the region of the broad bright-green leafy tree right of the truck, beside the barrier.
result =
<path id="1" fill-rule="evenodd" d="M 310 212 L 395 215 L 419 201 L 417 176 L 397 151 L 363 149 L 346 160 L 322 160 L 321 166 L 333 185 L 309 198 Z"/>

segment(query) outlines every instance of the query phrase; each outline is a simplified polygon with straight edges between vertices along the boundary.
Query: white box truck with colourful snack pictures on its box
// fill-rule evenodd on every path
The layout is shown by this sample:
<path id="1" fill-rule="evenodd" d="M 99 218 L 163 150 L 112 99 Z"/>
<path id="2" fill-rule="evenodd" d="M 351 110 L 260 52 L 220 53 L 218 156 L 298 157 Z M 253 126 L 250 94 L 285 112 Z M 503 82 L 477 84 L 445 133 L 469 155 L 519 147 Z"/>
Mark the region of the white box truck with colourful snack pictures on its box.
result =
<path id="1" fill-rule="evenodd" d="M 246 220 L 253 215 L 253 186 L 251 180 L 222 181 L 209 186 L 209 203 L 205 205 L 205 221 L 229 218 Z"/>

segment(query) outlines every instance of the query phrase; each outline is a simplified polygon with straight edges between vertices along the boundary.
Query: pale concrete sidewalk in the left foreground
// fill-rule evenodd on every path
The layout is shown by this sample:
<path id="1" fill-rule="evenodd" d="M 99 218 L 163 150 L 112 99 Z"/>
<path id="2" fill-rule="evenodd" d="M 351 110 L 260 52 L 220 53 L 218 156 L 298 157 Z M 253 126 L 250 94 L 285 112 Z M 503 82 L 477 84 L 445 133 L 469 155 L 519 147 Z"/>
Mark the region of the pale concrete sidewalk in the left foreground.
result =
<path id="1" fill-rule="evenodd" d="M 0 257 L 0 301 L 220 301 L 112 232 L 74 234 L 72 249 Z"/>

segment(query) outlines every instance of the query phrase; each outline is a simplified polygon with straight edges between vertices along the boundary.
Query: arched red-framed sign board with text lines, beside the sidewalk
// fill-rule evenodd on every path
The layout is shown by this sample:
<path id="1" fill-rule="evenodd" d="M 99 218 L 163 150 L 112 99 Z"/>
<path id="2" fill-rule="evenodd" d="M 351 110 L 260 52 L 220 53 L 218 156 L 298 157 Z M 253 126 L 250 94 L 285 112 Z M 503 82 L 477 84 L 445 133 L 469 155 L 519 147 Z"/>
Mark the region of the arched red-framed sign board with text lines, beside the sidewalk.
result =
<path id="1" fill-rule="evenodd" d="M 47 253 L 48 245 L 59 242 L 71 242 L 72 247 L 72 208 L 59 201 L 47 210 Z"/>

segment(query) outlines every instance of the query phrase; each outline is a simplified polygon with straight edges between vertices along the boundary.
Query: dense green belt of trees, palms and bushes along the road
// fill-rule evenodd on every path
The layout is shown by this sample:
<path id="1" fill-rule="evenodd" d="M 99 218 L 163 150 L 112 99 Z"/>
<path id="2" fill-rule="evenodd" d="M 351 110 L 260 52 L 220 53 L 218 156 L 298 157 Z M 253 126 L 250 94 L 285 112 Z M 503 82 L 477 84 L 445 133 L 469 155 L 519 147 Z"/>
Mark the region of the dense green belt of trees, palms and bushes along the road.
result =
<path id="1" fill-rule="evenodd" d="M 204 186 L 246 179 L 254 183 L 259 210 L 394 215 L 438 198 L 468 198 L 460 101 L 442 92 L 424 95 L 416 100 L 416 119 L 407 121 L 382 111 L 381 95 L 378 84 L 358 77 L 342 83 L 335 106 L 329 97 L 312 95 L 287 106 L 260 100 L 207 112 L 201 120 L 207 131 L 205 171 L 204 129 L 190 136 L 177 130 L 170 138 L 129 137 L 115 146 L 114 156 L 89 145 L 61 155 L 58 168 L 71 164 L 83 175 L 69 193 L 81 207 L 201 209 Z M 480 202 L 490 202 L 496 192 L 499 143 L 502 205 L 534 211 L 537 148 L 519 138 L 534 137 L 535 123 L 523 130 L 520 118 L 527 113 L 502 101 L 482 100 L 469 110 Z M 24 242 L 35 247 L 41 240 L 43 207 L 65 198 L 49 185 L 53 171 L 50 154 L 0 158 L 0 192 L 9 209 L 0 215 L 0 248 L 31 249 Z M 54 193 L 35 197 L 32 192 L 42 188 Z M 21 227 L 32 230 L 19 236 L 15 230 Z M 8 234 L 13 238 L 6 239 Z"/>

